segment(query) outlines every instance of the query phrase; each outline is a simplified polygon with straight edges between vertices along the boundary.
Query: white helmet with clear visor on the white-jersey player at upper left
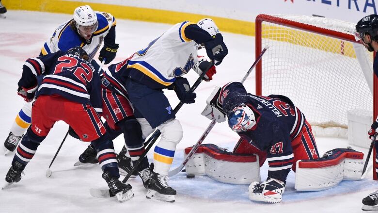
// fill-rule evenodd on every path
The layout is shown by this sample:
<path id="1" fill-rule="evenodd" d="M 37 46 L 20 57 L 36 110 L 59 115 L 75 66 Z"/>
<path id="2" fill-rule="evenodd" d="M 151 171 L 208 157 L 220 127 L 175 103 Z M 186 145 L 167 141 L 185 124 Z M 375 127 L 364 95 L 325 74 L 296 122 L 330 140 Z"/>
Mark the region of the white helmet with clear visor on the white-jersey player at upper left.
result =
<path id="1" fill-rule="evenodd" d="M 76 8 L 74 11 L 74 20 L 78 33 L 87 40 L 97 30 L 97 16 L 89 5 Z"/>

